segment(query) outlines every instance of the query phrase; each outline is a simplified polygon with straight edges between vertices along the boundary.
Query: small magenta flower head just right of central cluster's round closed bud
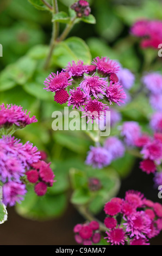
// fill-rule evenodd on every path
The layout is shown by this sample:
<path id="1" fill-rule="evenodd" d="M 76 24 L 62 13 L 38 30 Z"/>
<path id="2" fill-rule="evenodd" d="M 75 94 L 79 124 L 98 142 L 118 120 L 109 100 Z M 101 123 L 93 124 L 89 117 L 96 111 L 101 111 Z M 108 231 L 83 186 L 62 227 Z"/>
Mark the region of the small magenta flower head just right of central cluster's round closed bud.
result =
<path id="1" fill-rule="evenodd" d="M 68 98 L 68 104 L 67 106 L 73 105 L 73 108 L 79 108 L 80 106 L 83 106 L 85 101 L 88 100 L 88 95 L 86 95 L 80 87 L 77 87 L 76 89 L 70 89 L 70 97 Z"/>

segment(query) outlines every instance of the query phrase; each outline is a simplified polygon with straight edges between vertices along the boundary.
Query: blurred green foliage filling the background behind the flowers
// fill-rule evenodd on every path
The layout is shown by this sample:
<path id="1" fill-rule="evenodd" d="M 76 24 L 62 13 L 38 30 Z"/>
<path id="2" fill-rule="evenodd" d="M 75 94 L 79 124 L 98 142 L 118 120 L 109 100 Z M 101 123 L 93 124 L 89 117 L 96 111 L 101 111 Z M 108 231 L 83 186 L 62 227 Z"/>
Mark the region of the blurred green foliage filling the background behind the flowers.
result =
<path id="1" fill-rule="evenodd" d="M 50 0 L 48 2 L 51 3 Z M 68 7 L 73 2 L 60 0 L 59 10 L 68 13 Z M 0 3 L 0 43 L 3 45 L 0 102 L 21 105 L 31 112 L 31 116 L 36 115 L 38 123 L 17 131 L 15 136 L 47 152 L 57 180 L 42 198 L 35 195 L 33 187 L 28 187 L 25 200 L 16 206 L 17 212 L 24 217 L 45 220 L 63 214 L 70 199 L 67 191 L 71 186 L 71 202 L 89 203 L 89 210 L 97 214 L 104 203 L 115 196 L 120 187 L 120 179 L 126 177 L 134 165 L 134 158 L 126 154 L 108 169 L 88 169 L 84 161 L 89 146 L 93 144 L 91 138 L 82 131 L 57 132 L 51 127 L 52 112 L 63 111 L 65 105 L 53 101 L 53 94 L 43 90 L 43 81 L 49 73 L 64 68 L 68 62 L 82 59 L 84 63 L 90 64 L 96 56 L 118 60 L 136 76 L 132 92 L 141 87 L 140 75 L 147 70 L 148 60 L 157 58 L 155 69 L 160 69 L 157 52 L 144 52 L 139 47 L 138 39 L 129 34 L 130 26 L 139 18 L 162 19 L 160 1 L 89 2 L 96 25 L 85 23 L 88 20 L 77 23 L 68 38 L 55 47 L 51 65 L 46 71 L 43 70 L 43 64 L 52 33 L 51 13 L 40 0 L 1 0 Z M 60 24 L 60 32 L 66 25 L 66 15 L 63 14 L 61 19 L 63 23 Z M 90 23 L 94 23 L 93 18 Z M 147 129 L 147 118 L 151 113 L 147 99 L 139 96 L 119 110 L 123 120 L 139 121 Z M 111 134 L 116 133 L 119 131 L 114 128 Z M 88 190 L 87 181 L 90 176 L 101 180 L 102 190 L 97 193 Z"/>

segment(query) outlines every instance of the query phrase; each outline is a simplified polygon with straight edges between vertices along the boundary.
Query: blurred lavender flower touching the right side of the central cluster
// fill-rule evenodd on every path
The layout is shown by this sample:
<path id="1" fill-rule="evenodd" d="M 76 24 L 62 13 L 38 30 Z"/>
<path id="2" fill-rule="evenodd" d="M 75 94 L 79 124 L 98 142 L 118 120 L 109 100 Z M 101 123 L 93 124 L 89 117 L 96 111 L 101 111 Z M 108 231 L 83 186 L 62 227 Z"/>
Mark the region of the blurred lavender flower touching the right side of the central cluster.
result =
<path id="1" fill-rule="evenodd" d="M 117 72 L 117 77 L 119 78 L 119 82 L 122 84 L 123 88 L 129 90 L 135 80 L 135 76 L 129 69 L 121 68 L 119 72 Z"/>

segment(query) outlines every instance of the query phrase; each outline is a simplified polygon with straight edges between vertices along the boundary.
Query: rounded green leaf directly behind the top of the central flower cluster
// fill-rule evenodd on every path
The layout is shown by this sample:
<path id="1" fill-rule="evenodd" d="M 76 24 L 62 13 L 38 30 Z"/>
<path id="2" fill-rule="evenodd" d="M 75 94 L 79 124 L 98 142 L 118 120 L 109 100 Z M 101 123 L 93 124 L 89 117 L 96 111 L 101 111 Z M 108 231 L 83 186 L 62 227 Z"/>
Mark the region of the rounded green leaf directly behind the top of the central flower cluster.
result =
<path id="1" fill-rule="evenodd" d="M 83 60 L 84 64 L 91 63 L 91 54 L 89 47 L 85 44 L 84 40 L 73 36 L 66 39 L 64 42 L 60 42 L 55 47 L 53 52 L 53 64 L 64 68 L 68 62 L 74 60 Z"/>

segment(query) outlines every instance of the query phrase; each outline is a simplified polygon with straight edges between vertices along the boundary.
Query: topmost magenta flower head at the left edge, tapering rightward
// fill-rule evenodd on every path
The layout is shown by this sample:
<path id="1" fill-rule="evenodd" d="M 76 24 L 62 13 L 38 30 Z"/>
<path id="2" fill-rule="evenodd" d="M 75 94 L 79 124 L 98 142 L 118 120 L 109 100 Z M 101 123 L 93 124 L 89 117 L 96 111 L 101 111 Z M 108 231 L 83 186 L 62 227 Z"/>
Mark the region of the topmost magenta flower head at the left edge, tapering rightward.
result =
<path id="1" fill-rule="evenodd" d="M 0 105 L 0 128 L 2 126 L 9 127 L 13 124 L 23 128 L 38 121 L 35 116 L 30 118 L 29 114 L 30 112 L 27 114 L 27 109 L 24 111 L 21 106 L 7 104 L 5 107 L 3 103 Z"/>

